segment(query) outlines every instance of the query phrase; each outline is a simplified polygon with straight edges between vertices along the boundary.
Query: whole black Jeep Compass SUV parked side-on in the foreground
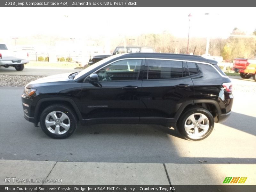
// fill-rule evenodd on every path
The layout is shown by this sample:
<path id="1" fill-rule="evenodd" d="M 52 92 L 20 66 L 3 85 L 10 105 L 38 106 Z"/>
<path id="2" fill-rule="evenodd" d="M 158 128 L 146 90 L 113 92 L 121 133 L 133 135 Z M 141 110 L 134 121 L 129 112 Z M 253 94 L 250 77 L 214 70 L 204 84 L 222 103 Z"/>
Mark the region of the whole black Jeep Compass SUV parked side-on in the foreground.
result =
<path id="1" fill-rule="evenodd" d="M 72 74 L 26 85 L 24 117 L 56 139 L 81 124 L 159 124 L 202 140 L 225 120 L 232 84 L 215 60 L 201 56 L 126 53 Z"/>

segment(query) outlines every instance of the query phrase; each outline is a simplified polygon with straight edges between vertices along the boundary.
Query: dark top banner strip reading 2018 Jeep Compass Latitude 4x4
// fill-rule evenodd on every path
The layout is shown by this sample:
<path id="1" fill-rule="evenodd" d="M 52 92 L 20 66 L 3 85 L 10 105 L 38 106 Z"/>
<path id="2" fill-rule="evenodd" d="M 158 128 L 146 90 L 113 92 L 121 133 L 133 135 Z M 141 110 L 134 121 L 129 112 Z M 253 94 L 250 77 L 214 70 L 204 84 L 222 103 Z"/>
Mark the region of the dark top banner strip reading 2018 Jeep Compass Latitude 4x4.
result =
<path id="1" fill-rule="evenodd" d="M 72 3 L 73 2 L 73 3 Z M 18 3 L 18 4 L 17 4 Z M 4 0 L 0 7 L 255 7 L 256 1 L 223 0 Z"/>

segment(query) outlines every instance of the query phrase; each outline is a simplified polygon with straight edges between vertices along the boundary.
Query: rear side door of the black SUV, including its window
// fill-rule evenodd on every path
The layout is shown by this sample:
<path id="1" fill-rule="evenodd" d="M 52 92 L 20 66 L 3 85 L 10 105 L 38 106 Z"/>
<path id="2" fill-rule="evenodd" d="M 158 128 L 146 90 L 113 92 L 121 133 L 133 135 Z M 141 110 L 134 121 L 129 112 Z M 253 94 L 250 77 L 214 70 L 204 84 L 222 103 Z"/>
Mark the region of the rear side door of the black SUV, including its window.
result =
<path id="1" fill-rule="evenodd" d="M 140 122 L 173 122 L 185 101 L 194 99 L 184 61 L 147 59 L 141 86 Z"/>

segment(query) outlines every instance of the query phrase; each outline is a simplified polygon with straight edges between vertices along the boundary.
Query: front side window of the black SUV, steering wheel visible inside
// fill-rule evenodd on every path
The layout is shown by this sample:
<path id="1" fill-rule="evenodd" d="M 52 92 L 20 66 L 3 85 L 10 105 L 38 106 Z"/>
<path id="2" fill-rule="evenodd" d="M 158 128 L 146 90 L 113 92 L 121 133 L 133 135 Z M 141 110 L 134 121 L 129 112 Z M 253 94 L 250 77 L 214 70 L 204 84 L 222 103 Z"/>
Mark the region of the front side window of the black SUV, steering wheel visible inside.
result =
<path id="1" fill-rule="evenodd" d="M 96 73 L 99 81 L 122 81 L 136 80 L 139 77 L 142 60 L 120 60 L 116 61 Z"/>

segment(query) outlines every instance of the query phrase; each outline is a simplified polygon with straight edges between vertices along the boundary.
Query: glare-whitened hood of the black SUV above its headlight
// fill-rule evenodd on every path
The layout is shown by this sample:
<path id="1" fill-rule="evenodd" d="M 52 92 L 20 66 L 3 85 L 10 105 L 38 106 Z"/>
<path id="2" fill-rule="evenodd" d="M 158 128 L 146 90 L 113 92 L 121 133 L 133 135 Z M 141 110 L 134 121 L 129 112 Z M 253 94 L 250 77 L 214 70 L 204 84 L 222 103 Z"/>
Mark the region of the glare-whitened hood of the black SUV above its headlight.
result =
<path id="1" fill-rule="evenodd" d="M 63 73 L 63 74 L 43 77 L 35 81 L 31 81 L 29 84 L 26 85 L 26 88 L 35 87 L 37 84 L 46 84 L 46 83 L 56 84 L 56 82 L 68 82 L 69 80 L 73 81 L 73 79 L 68 78 L 70 74 L 72 73 Z"/>

